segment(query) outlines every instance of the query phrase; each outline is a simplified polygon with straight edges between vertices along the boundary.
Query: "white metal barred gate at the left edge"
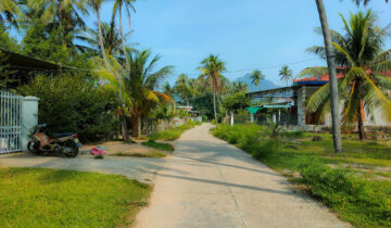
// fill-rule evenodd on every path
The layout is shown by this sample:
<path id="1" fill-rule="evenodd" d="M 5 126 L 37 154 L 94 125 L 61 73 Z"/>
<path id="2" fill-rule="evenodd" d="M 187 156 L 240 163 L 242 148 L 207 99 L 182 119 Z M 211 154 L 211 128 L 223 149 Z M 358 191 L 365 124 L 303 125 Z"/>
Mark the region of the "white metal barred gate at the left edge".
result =
<path id="1" fill-rule="evenodd" d="M 23 97 L 0 90 L 0 154 L 22 151 Z"/>

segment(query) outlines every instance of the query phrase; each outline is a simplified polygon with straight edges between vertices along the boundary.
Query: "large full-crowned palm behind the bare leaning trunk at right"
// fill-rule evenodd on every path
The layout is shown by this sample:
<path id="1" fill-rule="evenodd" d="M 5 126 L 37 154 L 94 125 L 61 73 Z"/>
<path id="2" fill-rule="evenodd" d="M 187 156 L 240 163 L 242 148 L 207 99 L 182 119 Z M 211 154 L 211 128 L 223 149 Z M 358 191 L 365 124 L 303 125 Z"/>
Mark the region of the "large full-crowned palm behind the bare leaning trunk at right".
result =
<path id="1" fill-rule="evenodd" d="M 360 139 L 365 139 L 365 112 L 374 118 L 374 112 L 389 116 L 391 78 L 384 73 L 391 71 L 391 49 L 382 51 L 388 27 L 375 26 L 376 16 L 371 11 L 351 14 L 344 23 L 344 34 L 330 30 L 336 60 L 343 77 L 339 79 L 339 92 L 343 102 L 343 123 L 357 123 Z M 311 51 L 324 55 L 324 47 L 312 47 Z M 299 76 L 315 75 L 326 68 L 306 68 Z M 307 111 L 324 113 L 329 109 L 329 84 L 318 89 L 307 101 Z"/>

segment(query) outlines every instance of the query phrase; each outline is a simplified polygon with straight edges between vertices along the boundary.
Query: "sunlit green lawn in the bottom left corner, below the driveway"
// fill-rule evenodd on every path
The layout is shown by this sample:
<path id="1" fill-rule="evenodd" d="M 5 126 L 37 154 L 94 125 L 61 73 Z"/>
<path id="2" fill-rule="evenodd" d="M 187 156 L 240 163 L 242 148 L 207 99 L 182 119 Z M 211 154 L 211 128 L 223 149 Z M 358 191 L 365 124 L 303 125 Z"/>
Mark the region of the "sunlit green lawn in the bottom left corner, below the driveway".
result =
<path id="1" fill-rule="evenodd" d="M 128 226 L 150 191 L 118 175 L 0 167 L 0 227 Z"/>

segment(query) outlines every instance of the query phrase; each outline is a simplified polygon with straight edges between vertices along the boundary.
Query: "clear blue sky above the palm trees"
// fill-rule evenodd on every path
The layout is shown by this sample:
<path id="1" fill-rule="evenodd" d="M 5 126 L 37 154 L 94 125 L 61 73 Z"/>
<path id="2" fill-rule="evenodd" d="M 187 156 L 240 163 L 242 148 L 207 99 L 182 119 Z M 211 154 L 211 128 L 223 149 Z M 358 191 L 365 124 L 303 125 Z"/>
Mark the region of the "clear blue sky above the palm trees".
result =
<path id="1" fill-rule="evenodd" d="M 337 30 L 342 27 L 338 12 L 348 16 L 357 11 L 351 0 L 325 3 L 330 27 Z M 219 54 L 227 63 L 225 76 L 230 80 L 260 68 L 266 79 L 282 85 L 278 76 L 281 64 L 287 63 L 294 74 L 326 64 L 305 52 L 307 47 L 323 43 L 321 36 L 314 34 L 320 25 L 315 0 L 140 0 L 135 7 L 135 33 L 128 42 L 161 54 L 161 66 L 174 65 L 171 83 L 180 73 L 197 77 L 195 67 L 210 53 Z M 380 25 L 391 23 L 391 3 L 373 0 L 367 8 L 378 13 Z M 110 20 L 111 9 L 110 1 L 103 5 L 104 21 Z M 94 21 L 89 18 L 89 23 Z M 124 25 L 128 29 L 127 20 Z"/>

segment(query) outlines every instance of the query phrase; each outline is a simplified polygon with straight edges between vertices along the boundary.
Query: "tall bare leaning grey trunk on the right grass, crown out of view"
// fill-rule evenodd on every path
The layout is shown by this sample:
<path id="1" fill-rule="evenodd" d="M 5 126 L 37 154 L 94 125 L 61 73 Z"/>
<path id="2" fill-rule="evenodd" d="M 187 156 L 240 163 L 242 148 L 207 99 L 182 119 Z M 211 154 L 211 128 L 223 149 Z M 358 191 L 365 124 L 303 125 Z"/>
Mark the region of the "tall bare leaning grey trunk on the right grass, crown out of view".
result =
<path id="1" fill-rule="evenodd" d="M 327 65 L 330 76 L 330 94 L 331 94 L 331 117 L 332 117 L 332 139 L 335 152 L 342 152 L 341 140 L 341 114 L 339 112 L 339 94 L 338 94 L 338 80 L 336 71 L 336 55 L 331 43 L 331 35 L 328 26 L 325 4 L 323 0 L 315 0 L 317 10 L 319 13 L 319 20 L 321 24 L 321 31 L 325 39 Z"/>

